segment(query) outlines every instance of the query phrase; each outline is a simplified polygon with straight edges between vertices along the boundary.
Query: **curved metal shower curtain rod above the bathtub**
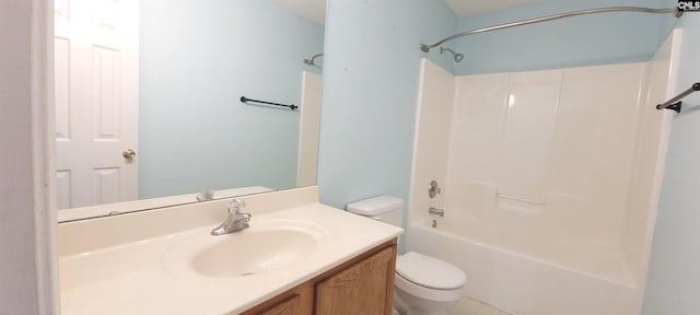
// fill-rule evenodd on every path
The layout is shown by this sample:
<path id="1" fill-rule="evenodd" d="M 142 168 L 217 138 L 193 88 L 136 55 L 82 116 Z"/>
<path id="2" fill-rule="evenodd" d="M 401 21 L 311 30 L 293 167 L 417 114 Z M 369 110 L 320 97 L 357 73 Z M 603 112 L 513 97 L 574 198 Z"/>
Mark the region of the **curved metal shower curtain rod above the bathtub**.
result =
<path id="1" fill-rule="evenodd" d="M 459 37 L 463 37 L 463 36 L 468 36 L 468 35 L 474 35 L 474 34 L 479 34 L 479 33 L 486 33 L 486 32 L 491 32 L 491 31 L 497 31 L 497 30 L 503 30 L 503 28 L 509 28 L 509 27 L 515 27 L 515 26 L 521 26 L 521 25 L 534 24 L 534 23 L 539 23 L 539 22 L 559 20 L 559 19 L 563 19 L 563 18 L 570 18 L 570 16 L 576 16 L 576 15 L 585 15 L 585 14 L 595 14 L 595 13 L 606 13 L 606 12 L 641 12 L 641 13 L 653 13 L 653 14 L 674 13 L 676 15 L 676 18 L 680 18 L 680 15 L 682 15 L 682 11 L 679 11 L 677 8 L 652 9 L 652 8 L 642 8 L 642 7 L 609 7 L 609 8 L 587 9 L 587 10 L 580 10 L 580 11 L 572 11 L 572 12 L 552 14 L 552 15 L 547 15 L 547 16 L 541 16 L 541 18 L 535 18 L 535 19 L 529 19 L 529 20 L 523 20 L 523 21 L 517 21 L 517 22 L 511 22 L 511 23 L 505 23 L 505 24 L 493 25 L 493 26 L 489 26 L 489 27 L 471 30 L 471 31 L 467 31 L 467 32 L 463 32 L 463 33 L 459 33 L 459 34 L 452 35 L 450 37 L 445 37 L 442 40 L 440 40 L 440 42 L 438 42 L 438 43 L 435 43 L 433 45 L 420 44 L 420 50 L 423 50 L 424 52 L 429 52 L 430 48 L 435 48 L 435 47 L 444 44 L 445 42 L 450 42 L 452 39 L 456 39 L 456 38 L 459 38 Z"/>

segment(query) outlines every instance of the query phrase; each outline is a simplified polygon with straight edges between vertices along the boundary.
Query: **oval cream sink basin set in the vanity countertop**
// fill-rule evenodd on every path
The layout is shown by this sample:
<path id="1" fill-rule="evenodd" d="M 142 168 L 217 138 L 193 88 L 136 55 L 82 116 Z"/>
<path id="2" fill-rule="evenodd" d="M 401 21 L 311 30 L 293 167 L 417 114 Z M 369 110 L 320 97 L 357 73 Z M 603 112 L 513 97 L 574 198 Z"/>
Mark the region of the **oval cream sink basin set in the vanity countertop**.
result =
<path id="1" fill-rule="evenodd" d="M 250 232 L 215 236 L 222 242 L 195 256 L 192 267 L 209 277 L 249 276 L 296 262 L 316 247 L 311 234 L 298 230 Z"/>

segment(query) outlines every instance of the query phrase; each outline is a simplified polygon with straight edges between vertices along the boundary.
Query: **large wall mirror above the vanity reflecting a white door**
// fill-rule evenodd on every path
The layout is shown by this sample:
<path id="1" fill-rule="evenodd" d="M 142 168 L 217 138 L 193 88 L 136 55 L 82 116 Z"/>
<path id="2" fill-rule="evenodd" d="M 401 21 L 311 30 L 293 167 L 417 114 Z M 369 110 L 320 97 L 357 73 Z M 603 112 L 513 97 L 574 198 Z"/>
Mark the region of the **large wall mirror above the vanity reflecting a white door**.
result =
<path id="1" fill-rule="evenodd" d="M 323 13 L 295 2 L 57 0 L 59 209 L 315 185 L 323 59 L 303 60 L 323 52 Z"/>

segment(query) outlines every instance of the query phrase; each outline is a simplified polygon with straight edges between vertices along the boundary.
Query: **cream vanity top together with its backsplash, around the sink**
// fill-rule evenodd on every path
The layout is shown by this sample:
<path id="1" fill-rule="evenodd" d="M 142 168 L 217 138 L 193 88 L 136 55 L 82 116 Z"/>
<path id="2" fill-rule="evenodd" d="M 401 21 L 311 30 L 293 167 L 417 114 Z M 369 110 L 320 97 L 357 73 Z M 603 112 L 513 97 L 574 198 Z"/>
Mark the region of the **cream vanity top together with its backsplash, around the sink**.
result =
<path id="1" fill-rule="evenodd" d="M 283 224 L 291 245 L 314 243 L 313 253 L 246 277 L 221 277 L 228 270 L 220 264 L 198 265 L 191 250 L 233 235 L 209 235 L 225 219 L 230 200 L 61 223 L 61 314 L 238 314 L 401 232 L 318 203 L 317 186 L 241 199 L 253 218 L 252 228 L 237 233 Z M 311 231 L 311 238 L 294 231 Z"/>

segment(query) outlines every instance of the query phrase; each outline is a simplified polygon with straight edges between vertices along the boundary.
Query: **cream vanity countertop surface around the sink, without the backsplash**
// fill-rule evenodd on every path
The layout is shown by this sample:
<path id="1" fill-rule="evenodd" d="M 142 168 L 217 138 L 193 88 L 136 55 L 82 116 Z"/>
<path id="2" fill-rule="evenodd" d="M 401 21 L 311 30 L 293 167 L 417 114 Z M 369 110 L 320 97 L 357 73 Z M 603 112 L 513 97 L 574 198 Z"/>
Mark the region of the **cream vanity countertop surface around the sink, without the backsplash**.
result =
<path id="1" fill-rule="evenodd" d="M 62 315 L 238 314 L 314 278 L 401 233 L 401 229 L 320 203 L 254 214 L 256 222 L 298 220 L 313 224 L 323 241 L 308 257 L 264 273 L 210 278 L 173 271 L 168 250 L 208 225 L 59 259 Z M 163 222 L 166 224 L 166 222 Z M 90 237 L 90 235 L 84 235 Z M 226 237 L 211 236 L 211 237 Z"/>

